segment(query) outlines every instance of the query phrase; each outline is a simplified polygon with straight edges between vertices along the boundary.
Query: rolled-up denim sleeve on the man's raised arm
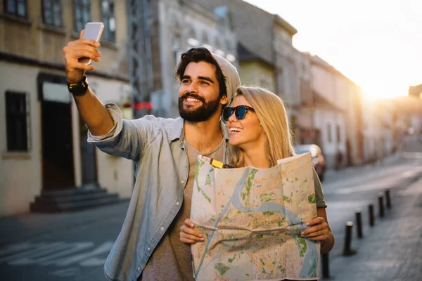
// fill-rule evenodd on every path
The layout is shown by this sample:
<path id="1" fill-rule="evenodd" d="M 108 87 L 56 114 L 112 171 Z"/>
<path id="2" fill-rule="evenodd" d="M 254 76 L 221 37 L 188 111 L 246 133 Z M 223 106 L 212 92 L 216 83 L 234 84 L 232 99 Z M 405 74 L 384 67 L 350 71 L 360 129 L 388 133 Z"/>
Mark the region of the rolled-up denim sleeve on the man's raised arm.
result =
<path id="1" fill-rule="evenodd" d="M 145 117 L 134 120 L 125 120 L 122 111 L 115 103 L 106 104 L 114 126 L 104 136 L 93 136 L 88 131 L 88 142 L 109 155 L 136 160 L 143 148 L 148 144 L 152 133 L 151 121 Z"/>

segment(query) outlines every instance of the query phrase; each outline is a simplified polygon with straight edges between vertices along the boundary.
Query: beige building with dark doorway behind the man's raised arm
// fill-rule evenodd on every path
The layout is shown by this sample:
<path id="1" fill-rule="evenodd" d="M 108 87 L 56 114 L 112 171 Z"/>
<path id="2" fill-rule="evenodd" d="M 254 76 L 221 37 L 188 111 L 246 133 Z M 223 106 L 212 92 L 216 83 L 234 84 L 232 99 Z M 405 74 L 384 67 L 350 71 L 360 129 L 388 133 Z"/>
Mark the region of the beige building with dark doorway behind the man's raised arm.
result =
<path id="1" fill-rule="evenodd" d="M 68 93 L 62 49 L 86 22 L 104 22 L 89 83 L 104 102 L 128 95 L 126 1 L 1 1 L 0 216 L 23 213 L 43 192 L 106 188 L 129 197 L 133 164 L 87 144 Z"/>

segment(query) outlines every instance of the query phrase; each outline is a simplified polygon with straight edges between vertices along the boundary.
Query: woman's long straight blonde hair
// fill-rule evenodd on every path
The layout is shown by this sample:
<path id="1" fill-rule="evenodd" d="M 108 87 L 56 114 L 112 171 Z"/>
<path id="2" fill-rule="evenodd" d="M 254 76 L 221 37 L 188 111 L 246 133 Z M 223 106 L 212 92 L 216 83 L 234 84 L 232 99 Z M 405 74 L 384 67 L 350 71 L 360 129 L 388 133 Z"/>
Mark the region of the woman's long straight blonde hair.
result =
<path id="1" fill-rule="evenodd" d="M 271 166 L 275 166 L 278 159 L 295 155 L 283 100 L 271 91 L 253 86 L 238 87 L 236 96 L 243 96 L 255 110 L 265 132 L 265 155 Z M 244 166 L 243 150 L 232 148 L 231 164 L 236 167 Z"/>

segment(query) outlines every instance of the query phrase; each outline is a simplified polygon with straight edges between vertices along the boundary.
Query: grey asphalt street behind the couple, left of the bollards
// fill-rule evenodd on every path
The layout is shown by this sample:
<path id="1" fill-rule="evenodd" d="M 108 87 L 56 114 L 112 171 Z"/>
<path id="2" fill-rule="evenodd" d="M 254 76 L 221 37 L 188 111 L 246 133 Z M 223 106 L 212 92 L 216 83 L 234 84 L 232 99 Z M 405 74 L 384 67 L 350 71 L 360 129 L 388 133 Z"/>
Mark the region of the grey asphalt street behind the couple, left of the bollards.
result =
<path id="1" fill-rule="evenodd" d="M 342 256 L 345 223 L 354 221 L 355 211 L 362 209 L 364 239 L 357 240 L 355 229 L 352 238 L 352 247 L 359 254 L 359 246 L 379 227 L 378 193 L 389 189 L 392 210 L 397 210 L 396 203 L 406 204 L 403 200 L 408 197 L 401 197 L 406 188 L 416 181 L 422 183 L 421 147 L 422 143 L 412 138 L 402 152 L 381 162 L 327 172 L 323 188 L 328 221 L 336 240 L 330 253 L 331 264 L 336 265 L 331 270 L 335 279 L 342 274 L 339 269 L 342 264 L 348 262 Z M 421 188 L 414 196 L 421 196 Z M 0 218 L 0 280 L 105 280 L 103 263 L 122 226 L 128 204 L 126 201 L 68 214 Z M 374 204 L 376 214 L 376 225 L 371 229 L 369 204 Z M 388 210 L 386 213 L 388 216 Z M 421 255 L 414 258 L 421 259 Z M 360 274 L 359 280 L 364 280 Z M 347 280 L 358 280 L 350 273 L 348 276 Z"/>

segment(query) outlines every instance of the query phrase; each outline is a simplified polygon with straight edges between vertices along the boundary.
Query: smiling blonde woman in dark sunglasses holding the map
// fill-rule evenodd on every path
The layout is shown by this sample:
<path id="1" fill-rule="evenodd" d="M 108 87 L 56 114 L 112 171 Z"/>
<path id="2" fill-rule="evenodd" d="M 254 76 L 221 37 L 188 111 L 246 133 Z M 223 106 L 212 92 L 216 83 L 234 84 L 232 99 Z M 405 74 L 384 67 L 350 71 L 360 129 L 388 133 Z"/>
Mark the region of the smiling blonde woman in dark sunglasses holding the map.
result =
<path id="1" fill-rule="evenodd" d="M 236 91 L 233 105 L 223 111 L 233 146 L 231 165 L 269 168 L 277 159 L 295 155 L 286 108 L 279 96 L 261 88 L 241 86 Z M 314 171 L 316 218 L 307 222 L 301 235 L 321 242 L 321 254 L 334 245 L 334 235 L 328 226 L 326 204 L 321 183 Z M 202 234 L 194 229 L 193 221 L 186 219 L 180 228 L 180 241 L 188 244 L 203 241 Z"/>

